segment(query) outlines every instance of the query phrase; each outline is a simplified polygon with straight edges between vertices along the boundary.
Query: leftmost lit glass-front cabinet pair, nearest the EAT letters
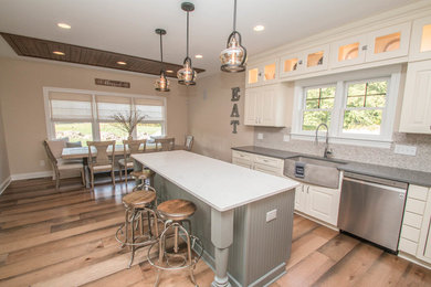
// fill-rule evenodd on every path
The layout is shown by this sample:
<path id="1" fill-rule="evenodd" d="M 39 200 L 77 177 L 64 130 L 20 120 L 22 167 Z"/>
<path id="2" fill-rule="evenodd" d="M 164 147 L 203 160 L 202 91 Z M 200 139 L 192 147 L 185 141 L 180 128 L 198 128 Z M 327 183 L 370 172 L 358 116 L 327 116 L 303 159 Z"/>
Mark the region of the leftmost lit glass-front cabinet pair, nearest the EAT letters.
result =
<path id="1" fill-rule="evenodd" d="M 277 79 L 278 62 L 270 61 L 260 65 L 251 65 L 246 70 L 246 86 L 271 84 Z"/>

